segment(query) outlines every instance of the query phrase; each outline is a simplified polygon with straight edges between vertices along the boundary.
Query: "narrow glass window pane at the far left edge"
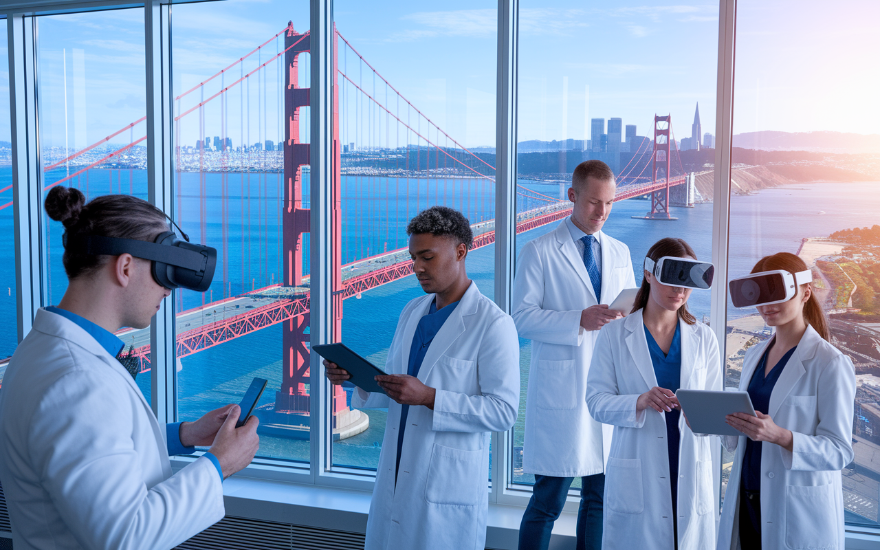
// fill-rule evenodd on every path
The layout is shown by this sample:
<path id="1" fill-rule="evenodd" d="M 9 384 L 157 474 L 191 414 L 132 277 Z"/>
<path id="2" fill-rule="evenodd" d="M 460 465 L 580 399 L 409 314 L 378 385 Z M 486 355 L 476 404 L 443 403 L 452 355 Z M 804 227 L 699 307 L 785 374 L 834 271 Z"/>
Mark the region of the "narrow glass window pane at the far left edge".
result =
<path id="1" fill-rule="evenodd" d="M 12 143 L 9 104 L 9 54 L 6 19 L 0 19 L 0 385 L 6 363 L 18 344 L 15 288 L 15 246 L 12 242 Z M 6 293 L 3 293 L 3 287 Z"/>

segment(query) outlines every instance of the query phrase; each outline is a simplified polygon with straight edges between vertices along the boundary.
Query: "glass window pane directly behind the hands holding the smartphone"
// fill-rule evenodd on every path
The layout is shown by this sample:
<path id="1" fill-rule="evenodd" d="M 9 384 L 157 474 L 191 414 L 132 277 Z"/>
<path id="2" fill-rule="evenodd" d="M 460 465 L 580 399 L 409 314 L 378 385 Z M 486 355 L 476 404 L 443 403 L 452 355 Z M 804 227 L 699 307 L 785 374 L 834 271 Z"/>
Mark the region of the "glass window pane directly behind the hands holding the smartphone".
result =
<path id="1" fill-rule="evenodd" d="M 309 4 L 172 6 L 174 218 L 217 249 L 177 293 L 178 416 L 253 377 L 258 456 L 309 461 Z"/>

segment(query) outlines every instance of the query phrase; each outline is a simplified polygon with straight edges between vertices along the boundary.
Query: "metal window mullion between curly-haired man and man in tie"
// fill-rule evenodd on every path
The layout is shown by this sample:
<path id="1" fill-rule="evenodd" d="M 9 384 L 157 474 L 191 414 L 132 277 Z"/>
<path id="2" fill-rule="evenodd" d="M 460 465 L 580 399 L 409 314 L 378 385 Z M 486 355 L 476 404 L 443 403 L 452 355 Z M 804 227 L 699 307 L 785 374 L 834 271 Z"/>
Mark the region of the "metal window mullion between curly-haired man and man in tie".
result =
<path id="1" fill-rule="evenodd" d="M 495 304 L 510 313 L 517 240 L 517 38 L 519 0 L 498 0 L 495 114 Z M 517 369 L 519 365 L 517 365 Z M 492 434 L 491 502 L 510 483 L 510 430 Z M 500 458 L 500 459 L 499 459 Z"/>

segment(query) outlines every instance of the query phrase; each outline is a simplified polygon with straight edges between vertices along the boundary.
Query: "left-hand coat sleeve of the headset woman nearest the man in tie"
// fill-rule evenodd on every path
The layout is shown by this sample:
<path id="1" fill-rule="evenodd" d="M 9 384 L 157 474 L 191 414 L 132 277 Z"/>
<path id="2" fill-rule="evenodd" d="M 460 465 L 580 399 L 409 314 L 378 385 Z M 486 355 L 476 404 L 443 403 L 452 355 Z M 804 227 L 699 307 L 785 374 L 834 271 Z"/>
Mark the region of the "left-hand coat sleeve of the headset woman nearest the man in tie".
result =
<path id="1" fill-rule="evenodd" d="M 642 428 L 645 424 L 645 411 L 635 411 L 639 394 L 620 394 L 612 349 L 619 344 L 612 342 L 610 334 L 611 331 L 607 328 L 599 331 L 596 348 L 593 350 L 590 373 L 587 375 L 587 409 L 596 422 L 624 428 Z"/>

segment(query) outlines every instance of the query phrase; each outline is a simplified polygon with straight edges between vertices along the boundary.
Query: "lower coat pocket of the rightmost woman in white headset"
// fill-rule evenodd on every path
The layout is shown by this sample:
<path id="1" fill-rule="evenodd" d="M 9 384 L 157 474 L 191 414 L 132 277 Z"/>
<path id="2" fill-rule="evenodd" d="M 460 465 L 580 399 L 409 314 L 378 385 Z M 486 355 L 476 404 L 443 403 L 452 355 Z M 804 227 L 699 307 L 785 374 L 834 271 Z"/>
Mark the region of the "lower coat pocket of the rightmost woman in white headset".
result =
<path id="1" fill-rule="evenodd" d="M 837 548 L 838 529 L 832 484 L 786 487 L 785 544 L 793 550 Z"/>

